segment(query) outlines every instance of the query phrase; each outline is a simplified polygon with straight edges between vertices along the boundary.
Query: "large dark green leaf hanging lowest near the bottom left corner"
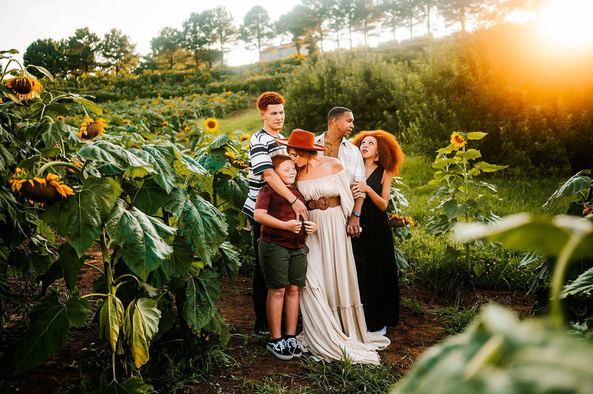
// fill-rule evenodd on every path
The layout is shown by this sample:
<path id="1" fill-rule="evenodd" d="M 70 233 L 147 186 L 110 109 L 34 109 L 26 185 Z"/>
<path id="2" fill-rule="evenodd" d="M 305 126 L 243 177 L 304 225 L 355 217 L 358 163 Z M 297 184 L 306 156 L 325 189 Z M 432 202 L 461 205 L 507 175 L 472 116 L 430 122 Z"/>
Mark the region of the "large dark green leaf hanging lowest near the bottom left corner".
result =
<path id="1" fill-rule="evenodd" d="M 69 298 L 66 305 L 58 301 L 57 292 L 46 296 L 31 310 L 31 327 L 23 333 L 15 352 L 15 370 L 38 366 L 65 348 L 69 328 L 81 327 L 90 313 L 88 302 L 78 296 Z"/>

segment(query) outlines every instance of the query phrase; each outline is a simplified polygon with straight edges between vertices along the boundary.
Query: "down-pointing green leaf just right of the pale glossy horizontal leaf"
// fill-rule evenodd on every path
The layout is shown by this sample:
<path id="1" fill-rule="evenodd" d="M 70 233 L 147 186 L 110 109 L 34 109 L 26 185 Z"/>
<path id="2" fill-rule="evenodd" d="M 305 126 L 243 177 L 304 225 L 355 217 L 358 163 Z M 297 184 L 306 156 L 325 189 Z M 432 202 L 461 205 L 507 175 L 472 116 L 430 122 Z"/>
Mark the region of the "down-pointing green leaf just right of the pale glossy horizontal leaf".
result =
<path id="1" fill-rule="evenodd" d="M 175 185 L 175 148 L 165 145 L 144 145 L 142 149 L 131 148 L 130 153 L 148 162 L 155 169 L 152 177 L 161 188 L 170 193 Z"/>

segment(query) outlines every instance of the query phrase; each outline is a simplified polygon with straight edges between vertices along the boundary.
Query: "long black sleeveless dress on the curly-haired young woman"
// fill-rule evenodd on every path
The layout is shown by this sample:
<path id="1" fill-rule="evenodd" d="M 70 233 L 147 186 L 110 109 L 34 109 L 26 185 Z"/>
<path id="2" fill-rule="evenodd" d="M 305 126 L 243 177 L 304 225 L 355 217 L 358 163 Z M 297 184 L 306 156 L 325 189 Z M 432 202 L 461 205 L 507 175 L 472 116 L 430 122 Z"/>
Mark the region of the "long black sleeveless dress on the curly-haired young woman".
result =
<path id="1" fill-rule="evenodd" d="M 383 171 L 378 166 L 366 179 L 366 184 L 378 195 L 381 195 Z M 368 196 L 362 205 L 360 223 L 362 233 L 352 238 L 352 250 L 366 328 L 378 331 L 399 322 L 400 288 L 393 234 L 387 213 L 377 208 Z"/>

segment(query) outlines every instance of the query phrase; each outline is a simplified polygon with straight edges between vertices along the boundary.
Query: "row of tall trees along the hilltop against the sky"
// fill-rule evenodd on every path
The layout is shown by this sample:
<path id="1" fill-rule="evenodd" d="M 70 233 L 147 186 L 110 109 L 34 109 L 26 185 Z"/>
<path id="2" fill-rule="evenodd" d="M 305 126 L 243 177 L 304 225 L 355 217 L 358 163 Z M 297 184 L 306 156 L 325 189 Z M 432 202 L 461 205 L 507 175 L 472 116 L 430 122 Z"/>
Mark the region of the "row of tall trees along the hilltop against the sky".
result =
<path id="1" fill-rule="evenodd" d="M 151 40 L 151 53 L 135 53 L 129 35 L 115 28 L 103 38 L 88 28 L 77 29 L 66 40 L 51 38 L 34 41 L 24 54 L 27 64 L 39 64 L 66 76 L 101 69 L 119 74 L 142 69 L 186 69 L 224 64 L 230 47 L 243 43 L 262 52 L 276 38 L 295 44 L 297 53 L 307 47 L 310 53 L 323 52 L 323 42 L 344 41 L 353 47 L 353 34 L 369 37 L 388 30 L 407 28 L 410 38 L 415 27 L 431 34 L 433 20 L 441 15 L 447 26 L 466 31 L 468 22 L 488 25 L 503 21 L 506 15 L 522 9 L 534 11 L 541 0 L 302 0 L 278 20 L 270 19 L 266 9 L 250 9 L 240 25 L 227 8 L 215 7 L 192 12 L 181 29 L 162 28 Z"/>

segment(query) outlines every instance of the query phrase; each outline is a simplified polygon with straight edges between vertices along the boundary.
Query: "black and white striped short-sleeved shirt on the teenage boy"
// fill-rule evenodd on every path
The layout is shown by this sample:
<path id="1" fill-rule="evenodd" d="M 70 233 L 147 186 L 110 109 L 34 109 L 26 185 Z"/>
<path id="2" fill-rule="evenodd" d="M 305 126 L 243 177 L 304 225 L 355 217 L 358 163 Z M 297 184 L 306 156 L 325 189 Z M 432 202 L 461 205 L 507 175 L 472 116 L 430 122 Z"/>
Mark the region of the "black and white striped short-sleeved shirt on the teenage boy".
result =
<path id="1" fill-rule="evenodd" d="M 272 156 L 286 153 L 286 147 L 275 141 L 276 138 L 284 138 L 282 134 L 274 137 L 262 130 L 251 135 L 249 140 L 249 194 L 243 206 L 243 212 L 253 218 L 253 211 L 256 206 L 257 193 L 266 185 L 263 172 L 273 170 Z"/>

